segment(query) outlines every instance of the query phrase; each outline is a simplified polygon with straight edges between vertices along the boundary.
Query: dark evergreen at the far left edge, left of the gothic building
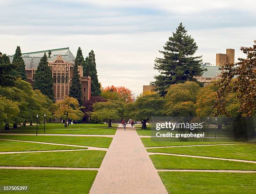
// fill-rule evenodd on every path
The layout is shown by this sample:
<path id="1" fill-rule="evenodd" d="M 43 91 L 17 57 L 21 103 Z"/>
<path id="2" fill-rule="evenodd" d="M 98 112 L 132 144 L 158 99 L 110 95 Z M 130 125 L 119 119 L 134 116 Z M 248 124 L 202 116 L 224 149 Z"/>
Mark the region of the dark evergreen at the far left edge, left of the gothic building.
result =
<path id="1" fill-rule="evenodd" d="M 6 54 L 0 56 L 0 86 L 14 86 L 16 66 L 10 63 L 10 59 Z"/>

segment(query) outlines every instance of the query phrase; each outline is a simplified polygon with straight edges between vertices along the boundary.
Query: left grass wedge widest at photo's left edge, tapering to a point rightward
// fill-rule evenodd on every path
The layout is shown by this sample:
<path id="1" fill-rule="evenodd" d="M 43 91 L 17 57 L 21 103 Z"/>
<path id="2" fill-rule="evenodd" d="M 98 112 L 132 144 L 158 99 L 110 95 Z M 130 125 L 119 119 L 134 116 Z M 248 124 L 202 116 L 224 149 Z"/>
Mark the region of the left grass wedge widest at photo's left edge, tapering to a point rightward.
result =
<path id="1" fill-rule="evenodd" d="M 0 152 L 71 150 L 71 149 L 73 150 L 73 149 L 86 149 L 86 148 L 71 147 L 71 146 L 65 146 L 65 145 L 47 145 L 47 144 L 40 144 L 40 143 L 0 140 Z"/>

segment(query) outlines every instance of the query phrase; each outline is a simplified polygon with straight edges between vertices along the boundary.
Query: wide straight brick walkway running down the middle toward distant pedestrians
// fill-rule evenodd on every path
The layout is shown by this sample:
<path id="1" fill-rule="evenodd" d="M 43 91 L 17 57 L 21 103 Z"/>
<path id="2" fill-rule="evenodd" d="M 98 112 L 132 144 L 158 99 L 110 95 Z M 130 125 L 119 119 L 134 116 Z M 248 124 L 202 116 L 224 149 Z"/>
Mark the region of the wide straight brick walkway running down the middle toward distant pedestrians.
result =
<path id="1" fill-rule="evenodd" d="M 135 128 L 118 128 L 90 194 L 168 194 Z"/>

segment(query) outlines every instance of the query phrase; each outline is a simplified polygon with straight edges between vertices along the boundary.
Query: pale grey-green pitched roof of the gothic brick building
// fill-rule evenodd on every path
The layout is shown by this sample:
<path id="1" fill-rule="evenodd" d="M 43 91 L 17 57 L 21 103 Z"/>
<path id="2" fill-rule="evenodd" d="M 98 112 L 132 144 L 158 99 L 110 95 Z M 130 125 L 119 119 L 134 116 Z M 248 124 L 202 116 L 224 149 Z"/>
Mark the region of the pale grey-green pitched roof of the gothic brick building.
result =
<path id="1" fill-rule="evenodd" d="M 60 54 L 64 61 L 74 63 L 75 57 L 72 52 L 69 50 L 69 47 L 65 48 L 55 48 L 45 51 L 35 51 L 30 53 L 23 53 L 22 58 L 25 62 L 25 69 L 36 69 L 40 59 L 44 56 L 44 53 L 48 56 L 48 52 L 51 51 L 51 57 L 48 57 L 48 61 L 52 62 Z M 13 61 L 13 55 L 9 55 L 10 62 Z"/>

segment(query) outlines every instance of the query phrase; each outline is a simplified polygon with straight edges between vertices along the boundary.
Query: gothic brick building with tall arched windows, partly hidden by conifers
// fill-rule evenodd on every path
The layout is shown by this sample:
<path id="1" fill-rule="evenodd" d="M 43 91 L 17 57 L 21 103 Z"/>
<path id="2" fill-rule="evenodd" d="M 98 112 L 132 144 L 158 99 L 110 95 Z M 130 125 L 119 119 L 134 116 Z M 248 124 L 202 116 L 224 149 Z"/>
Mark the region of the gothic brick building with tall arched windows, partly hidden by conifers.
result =
<path id="1" fill-rule="evenodd" d="M 36 51 L 30 53 L 23 53 L 22 57 L 25 61 L 25 70 L 27 81 L 33 85 L 36 68 L 44 53 L 48 55 L 51 51 L 51 56 L 48 57 L 49 66 L 51 67 L 52 77 L 54 81 L 54 97 L 55 100 L 62 100 L 69 95 L 69 87 L 72 84 L 72 75 L 75 57 L 67 48 L 57 48 L 46 51 Z M 9 56 L 10 62 L 13 61 L 13 55 Z M 82 86 L 82 99 L 90 100 L 91 98 L 91 78 L 83 77 L 82 66 L 79 66 L 79 74 Z"/>

